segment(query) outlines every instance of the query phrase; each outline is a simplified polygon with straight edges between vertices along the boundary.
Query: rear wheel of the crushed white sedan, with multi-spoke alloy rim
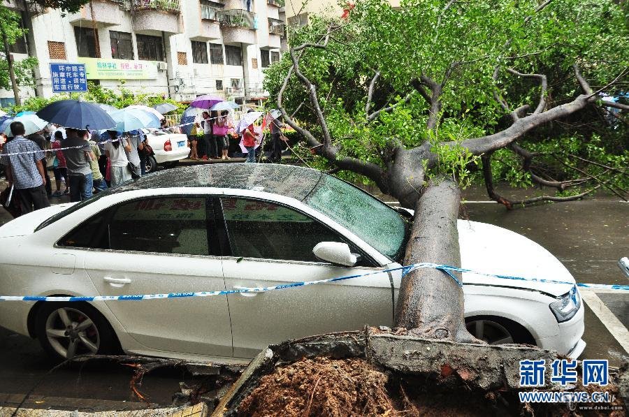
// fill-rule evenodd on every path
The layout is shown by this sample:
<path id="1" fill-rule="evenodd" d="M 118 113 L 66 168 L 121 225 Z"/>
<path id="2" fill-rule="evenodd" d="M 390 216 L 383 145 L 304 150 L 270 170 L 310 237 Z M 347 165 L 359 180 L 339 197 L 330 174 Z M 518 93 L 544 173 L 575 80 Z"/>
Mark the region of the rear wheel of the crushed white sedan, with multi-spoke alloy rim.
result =
<path id="1" fill-rule="evenodd" d="M 120 350 L 108 321 L 85 302 L 44 302 L 35 319 L 35 334 L 55 360 Z"/>

